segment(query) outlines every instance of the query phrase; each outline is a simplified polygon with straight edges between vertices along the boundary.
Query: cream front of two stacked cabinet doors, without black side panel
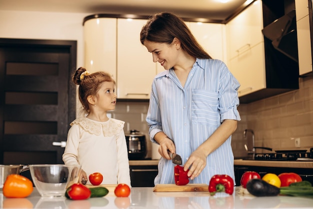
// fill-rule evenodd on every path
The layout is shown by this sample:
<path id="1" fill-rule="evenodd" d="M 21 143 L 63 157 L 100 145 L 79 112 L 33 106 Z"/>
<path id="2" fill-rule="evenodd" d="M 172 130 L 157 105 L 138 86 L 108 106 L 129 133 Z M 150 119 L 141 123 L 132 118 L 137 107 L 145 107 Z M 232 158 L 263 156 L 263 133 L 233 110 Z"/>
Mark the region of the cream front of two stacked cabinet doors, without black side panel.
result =
<path id="1" fill-rule="evenodd" d="M 266 88 L 261 1 L 239 13 L 226 28 L 229 69 L 240 82 L 238 95 Z"/>

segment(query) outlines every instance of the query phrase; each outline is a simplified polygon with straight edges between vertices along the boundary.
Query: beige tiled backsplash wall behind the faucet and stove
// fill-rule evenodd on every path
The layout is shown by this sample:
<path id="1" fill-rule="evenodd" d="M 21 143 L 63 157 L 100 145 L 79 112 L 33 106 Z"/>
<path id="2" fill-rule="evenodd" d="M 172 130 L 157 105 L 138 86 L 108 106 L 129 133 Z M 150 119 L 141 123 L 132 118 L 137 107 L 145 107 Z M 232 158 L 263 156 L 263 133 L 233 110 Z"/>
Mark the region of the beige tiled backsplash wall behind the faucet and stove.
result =
<path id="1" fill-rule="evenodd" d="M 294 139 L 300 138 L 300 149 L 313 147 L 313 79 L 299 78 L 299 89 L 240 104 L 241 121 L 232 135 L 232 148 L 236 157 L 245 156 L 243 130 L 252 129 L 255 146 L 273 150 L 298 149 Z M 251 135 L 247 135 L 251 137 Z M 268 152 L 256 149 L 257 152 Z"/>

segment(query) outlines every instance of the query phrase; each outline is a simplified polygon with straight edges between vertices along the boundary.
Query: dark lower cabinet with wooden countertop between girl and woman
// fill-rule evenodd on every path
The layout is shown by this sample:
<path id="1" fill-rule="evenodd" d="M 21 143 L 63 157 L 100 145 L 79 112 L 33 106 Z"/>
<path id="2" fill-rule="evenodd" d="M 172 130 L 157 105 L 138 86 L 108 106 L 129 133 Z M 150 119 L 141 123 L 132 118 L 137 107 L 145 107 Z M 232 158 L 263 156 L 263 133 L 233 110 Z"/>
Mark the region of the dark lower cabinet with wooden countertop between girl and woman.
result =
<path id="1" fill-rule="evenodd" d="M 129 160 L 132 187 L 153 187 L 158 160 Z"/>

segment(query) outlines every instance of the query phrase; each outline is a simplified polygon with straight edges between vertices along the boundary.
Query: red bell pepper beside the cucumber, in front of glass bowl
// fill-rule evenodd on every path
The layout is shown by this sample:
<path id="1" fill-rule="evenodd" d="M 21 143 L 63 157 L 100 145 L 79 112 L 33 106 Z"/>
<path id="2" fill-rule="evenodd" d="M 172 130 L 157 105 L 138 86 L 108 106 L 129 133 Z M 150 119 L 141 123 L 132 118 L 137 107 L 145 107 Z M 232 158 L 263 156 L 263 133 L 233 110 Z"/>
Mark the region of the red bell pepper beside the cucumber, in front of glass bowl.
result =
<path id="1" fill-rule="evenodd" d="M 81 183 L 74 183 L 66 189 L 65 196 L 69 199 L 79 200 L 87 199 L 91 195 L 91 191 Z"/>

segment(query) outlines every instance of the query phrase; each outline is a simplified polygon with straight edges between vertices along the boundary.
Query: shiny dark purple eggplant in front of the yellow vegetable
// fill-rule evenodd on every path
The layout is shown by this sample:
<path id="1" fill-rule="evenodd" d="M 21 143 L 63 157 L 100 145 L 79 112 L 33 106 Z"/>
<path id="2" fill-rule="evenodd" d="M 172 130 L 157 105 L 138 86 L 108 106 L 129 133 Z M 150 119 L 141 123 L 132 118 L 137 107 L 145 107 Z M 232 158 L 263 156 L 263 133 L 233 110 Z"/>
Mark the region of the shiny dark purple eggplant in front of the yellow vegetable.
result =
<path id="1" fill-rule="evenodd" d="M 277 196 L 280 193 L 280 189 L 277 186 L 259 178 L 248 180 L 246 189 L 254 196 Z"/>

